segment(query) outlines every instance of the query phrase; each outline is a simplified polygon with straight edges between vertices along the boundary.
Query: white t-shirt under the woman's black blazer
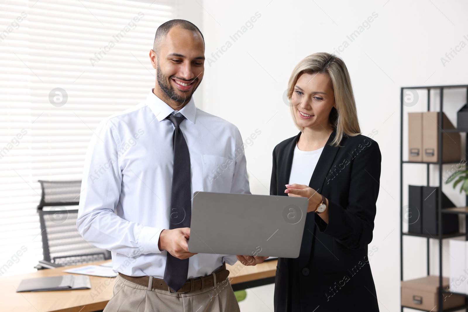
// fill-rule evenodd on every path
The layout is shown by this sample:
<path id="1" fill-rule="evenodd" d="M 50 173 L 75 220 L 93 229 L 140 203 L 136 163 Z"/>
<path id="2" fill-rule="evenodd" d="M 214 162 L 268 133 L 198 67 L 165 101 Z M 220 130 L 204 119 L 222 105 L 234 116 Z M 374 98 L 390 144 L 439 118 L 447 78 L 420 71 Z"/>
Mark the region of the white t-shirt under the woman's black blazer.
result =
<path id="1" fill-rule="evenodd" d="M 296 144 L 296 148 L 294 149 L 294 157 L 292 158 L 289 184 L 296 183 L 308 186 L 322 151 L 323 147 L 315 151 L 301 151 Z"/>

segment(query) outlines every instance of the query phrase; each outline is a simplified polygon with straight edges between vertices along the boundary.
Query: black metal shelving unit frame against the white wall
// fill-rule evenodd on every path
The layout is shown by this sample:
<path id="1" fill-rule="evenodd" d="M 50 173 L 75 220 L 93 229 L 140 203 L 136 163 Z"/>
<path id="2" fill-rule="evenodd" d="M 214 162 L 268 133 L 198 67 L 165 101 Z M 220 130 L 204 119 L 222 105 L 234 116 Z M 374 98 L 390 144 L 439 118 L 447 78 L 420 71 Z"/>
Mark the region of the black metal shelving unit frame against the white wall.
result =
<path id="1" fill-rule="evenodd" d="M 453 238 L 453 237 L 460 237 L 465 236 L 465 239 L 468 240 L 468 208 L 464 210 L 442 210 L 442 165 L 444 164 L 456 164 L 458 162 L 444 162 L 442 161 L 442 146 L 443 146 L 443 133 L 448 132 L 461 132 L 467 133 L 466 137 L 466 151 L 465 151 L 465 161 L 468 158 L 468 129 L 441 129 L 439 127 L 439 140 L 438 140 L 438 162 L 415 162 L 415 161 L 404 161 L 403 160 L 403 114 L 404 114 L 404 105 L 403 105 L 403 94 L 405 89 L 426 89 L 427 90 L 427 111 L 431 110 L 431 90 L 439 89 L 440 92 L 440 105 L 439 105 L 439 125 L 442 125 L 442 112 L 444 109 L 444 89 L 460 89 L 466 88 L 467 89 L 467 102 L 468 102 L 468 85 L 458 85 L 458 86 L 432 86 L 432 87 L 402 87 L 400 93 L 400 102 L 401 102 L 401 116 L 400 116 L 400 280 L 403 281 L 403 237 L 404 236 L 418 236 L 425 238 L 427 240 L 427 275 L 430 275 L 430 252 L 429 252 L 429 241 L 430 239 L 437 239 L 439 241 L 439 306 L 438 311 L 442 312 L 449 312 L 449 311 L 458 311 L 465 309 L 468 311 L 468 295 L 461 294 L 461 293 L 452 293 L 450 291 L 446 291 L 442 289 L 442 240 Z M 439 188 L 438 188 L 438 215 L 439 215 L 439 235 L 433 236 L 431 234 L 417 234 L 417 233 L 409 233 L 403 232 L 403 166 L 405 164 L 426 164 L 426 185 L 429 186 L 429 166 L 437 165 L 439 168 Z M 468 206 L 468 195 L 465 198 L 465 203 Z M 453 233 L 453 234 L 442 234 L 442 213 L 456 213 L 456 214 L 464 214 L 465 215 L 465 233 Z M 461 295 L 465 296 L 465 305 L 456 307 L 449 310 L 442 310 L 442 304 L 444 302 L 444 294 L 454 294 L 454 295 Z M 401 306 L 401 311 L 403 312 L 403 306 Z M 415 308 L 409 308 L 415 309 Z M 415 309 L 418 310 L 418 309 Z M 434 311 L 435 312 L 435 311 Z"/>

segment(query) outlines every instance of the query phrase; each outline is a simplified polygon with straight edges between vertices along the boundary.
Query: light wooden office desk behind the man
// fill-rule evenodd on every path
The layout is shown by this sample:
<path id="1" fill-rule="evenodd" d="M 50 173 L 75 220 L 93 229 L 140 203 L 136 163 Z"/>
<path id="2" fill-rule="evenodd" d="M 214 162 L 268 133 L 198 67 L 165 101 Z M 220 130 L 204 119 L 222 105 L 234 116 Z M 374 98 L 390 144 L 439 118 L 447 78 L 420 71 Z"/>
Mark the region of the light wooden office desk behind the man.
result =
<path id="1" fill-rule="evenodd" d="M 100 261 L 89 264 L 101 264 Z M 245 289 L 274 283 L 277 260 L 263 262 L 256 266 L 245 267 L 240 262 L 234 266 L 227 265 L 231 271 L 229 278 L 233 289 Z M 59 290 L 39 292 L 16 292 L 16 288 L 25 278 L 59 276 L 68 268 L 61 267 L 38 270 L 34 273 L 0 277 L 0 311 L 1 312 L 91 312 L 104 309 L 112 297 L 115 277 L 89 276 L 91 289 Z"/>

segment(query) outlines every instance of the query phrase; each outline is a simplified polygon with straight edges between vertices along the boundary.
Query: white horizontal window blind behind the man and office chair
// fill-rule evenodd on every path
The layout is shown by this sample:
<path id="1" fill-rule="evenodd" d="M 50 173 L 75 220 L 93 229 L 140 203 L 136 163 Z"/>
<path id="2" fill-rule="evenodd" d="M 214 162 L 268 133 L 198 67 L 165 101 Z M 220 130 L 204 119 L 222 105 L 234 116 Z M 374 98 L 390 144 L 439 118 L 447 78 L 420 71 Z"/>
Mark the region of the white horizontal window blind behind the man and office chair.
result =
<path id="1" fill-rule="evenodd" d="M 98 123 L 154 87 L 148 52 L 174 2 L 0 2 L 0 276 L 42 259 L 37 181 L 81 180 Z"/>

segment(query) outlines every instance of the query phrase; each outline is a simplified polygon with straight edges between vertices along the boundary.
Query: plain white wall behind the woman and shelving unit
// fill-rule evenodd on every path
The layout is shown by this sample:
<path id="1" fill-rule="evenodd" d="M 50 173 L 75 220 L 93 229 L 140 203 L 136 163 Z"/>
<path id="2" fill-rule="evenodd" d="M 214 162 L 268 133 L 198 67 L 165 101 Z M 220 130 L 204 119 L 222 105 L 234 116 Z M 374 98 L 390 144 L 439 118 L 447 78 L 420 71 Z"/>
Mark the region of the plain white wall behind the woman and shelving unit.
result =
<path id="1" fill-rule="evenodd" d="M 333 52 L 344 41 L 349 43 L 339 56 L 351 74 L 361 131 L 364 135 L 373 129 L 378 131 L 374 139 L 382 153 L 378 211 L 370 244 L 379 250 L 370 258 L 371 267 L 380 310 L 399 311 L 400 87 L 468 83 L 468 47 L 445 66 L 441 62 L 451 48 L 461 41 L 468 43 L 468 3 L 461 0 L 197 2 L 203 7 L 205 56 L 212 58 L 211 53 L 227 41 L 232 46 L 219 58 L 212 58 L 214 62 L 207 60 L 203 89 L 197 90 L 195 99 L 203 95 L 203 101 L 197 105 L 236 124 L 244 140 L 256 129 L 261 131 L 252 143 L 246 144 L 251 145 L 246 148 L 246 155 L 251 190 L 255 194 L 268 194 L 273 147 L 298 133 L 282 100 L 292 68 L 309 54 Z M 229 36 L 256 12 L 261 17 L 253 28 L 233 42 Z M 373 12 L 378 16 L 370 27 L 351 42 L 347 36 Z M 455 91 L 450 97 L 454 109 L 466 101 L 465 94 Z M 416 172 L 422 174 L 420 179 L 415 178 L 414 171 L 408 174 L 407 182 L 425 181 L 425 170 Z M 434 179 L 433 183 L 437 181 Z M 464 204 L 458 192 L 452 193 L 449 196 L 453 201 Z M 404 244 L 405 279 L 424 276 L 425 240 L 408 237 Z M 437 251 L 437 242 L 431 246 Z M 448 254 L 444 254 L 447 262 Z M 432 272 L 437 273 L 437 263 L 432 262 Z M 256 298 L 259 299 L 263 308 L 257 311 L 270 311 L 272 295 Z"/>

